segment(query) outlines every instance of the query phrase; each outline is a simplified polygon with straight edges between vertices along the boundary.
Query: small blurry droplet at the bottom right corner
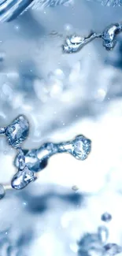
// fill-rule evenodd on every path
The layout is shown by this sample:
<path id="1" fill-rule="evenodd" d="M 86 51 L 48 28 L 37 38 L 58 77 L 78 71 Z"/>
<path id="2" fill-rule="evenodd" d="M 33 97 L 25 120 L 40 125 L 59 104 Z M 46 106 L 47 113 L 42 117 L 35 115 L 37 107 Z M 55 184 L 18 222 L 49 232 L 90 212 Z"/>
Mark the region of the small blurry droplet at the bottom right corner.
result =
<path id="1" fill-rule="evenodd" d="M 107 243 L 104 246 L 104 250 L 109 255 L 113 256 L 113 255 L 116 255 L 116 254 L 120 254 L 122 252 L 122 247 L 120 247 L 116 243 Z"/>

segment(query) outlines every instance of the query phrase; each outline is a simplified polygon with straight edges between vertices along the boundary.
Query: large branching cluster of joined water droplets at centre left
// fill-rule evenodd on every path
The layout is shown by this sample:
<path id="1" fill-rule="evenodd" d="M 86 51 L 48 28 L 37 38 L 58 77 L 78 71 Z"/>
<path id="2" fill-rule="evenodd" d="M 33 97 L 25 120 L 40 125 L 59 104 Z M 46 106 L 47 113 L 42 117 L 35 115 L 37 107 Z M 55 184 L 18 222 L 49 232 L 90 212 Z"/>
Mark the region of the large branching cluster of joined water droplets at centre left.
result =
<path id="1" fill-rule="evenodd" d="M 91 152 L 91 140 L 83 135 L 78 135 L 75 139 L 65 143 L 44 143 L 36 150 L 22 150 L 20 145 L 27 139 L 28 133 L 29 123 L 24 115 L 17 117 L 9 126 L 0 128 L 0 134 L 6 135 L 9 145 L 17 150 L 14 164 L 18 172 L 11 180 L 11 186 L 17 190 L 36 180 L 35 173 L 46 167 L 52 155 L 66 152 L 83 161 Z"/>

